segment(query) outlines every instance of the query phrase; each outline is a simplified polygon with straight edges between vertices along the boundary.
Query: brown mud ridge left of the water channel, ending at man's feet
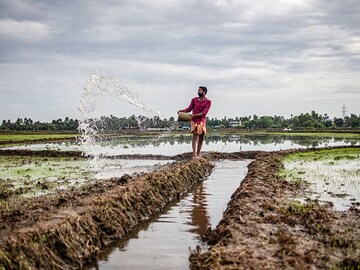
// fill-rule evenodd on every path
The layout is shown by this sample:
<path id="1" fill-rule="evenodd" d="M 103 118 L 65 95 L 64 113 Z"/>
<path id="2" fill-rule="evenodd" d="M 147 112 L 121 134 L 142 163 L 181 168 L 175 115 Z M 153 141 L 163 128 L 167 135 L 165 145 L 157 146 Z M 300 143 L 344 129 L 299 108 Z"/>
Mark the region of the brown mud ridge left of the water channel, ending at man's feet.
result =
<path id="1" fill-rule="evenodd" d="M 79 198 L 63 193 L 49 204 L 44 198 L 33 200 L 11 215 L 2 207 L 0 268 L 81 268 L 109 242 L 210 175 L 212 167 L 208 159 L 185 160 L 138 177 L 115 179 Z"/>

